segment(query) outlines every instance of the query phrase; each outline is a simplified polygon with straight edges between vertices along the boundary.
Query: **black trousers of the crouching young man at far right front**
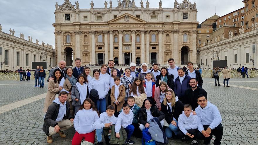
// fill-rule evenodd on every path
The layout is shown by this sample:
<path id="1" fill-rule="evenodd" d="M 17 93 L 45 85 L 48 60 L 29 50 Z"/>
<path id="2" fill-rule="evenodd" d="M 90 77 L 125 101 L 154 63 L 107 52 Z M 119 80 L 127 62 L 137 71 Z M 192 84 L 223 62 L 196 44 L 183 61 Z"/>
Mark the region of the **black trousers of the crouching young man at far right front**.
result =
<path id="1" fill-rule="evenodd" d="M 204 130 L 206 130 L 209 127 L 209 125 L 203 125 Z M 221 139 L 223 136 L 223 126 L 220 123 L 217 127 L 215 127 L 214 129 L 211 130 L 211 134 L 210 135 L 215 135 L 216 139 L 214 140 L 214 145 L 220 145 L 221 144 Z M 198 139 L 204 139 L 203 143 L 207 143 L 209 141 L 211 141 L 212 136 L 210 137 L 204 137 L 203 134 L 201 132 L 197 133 L 197 138 Z"/>

